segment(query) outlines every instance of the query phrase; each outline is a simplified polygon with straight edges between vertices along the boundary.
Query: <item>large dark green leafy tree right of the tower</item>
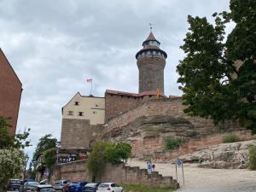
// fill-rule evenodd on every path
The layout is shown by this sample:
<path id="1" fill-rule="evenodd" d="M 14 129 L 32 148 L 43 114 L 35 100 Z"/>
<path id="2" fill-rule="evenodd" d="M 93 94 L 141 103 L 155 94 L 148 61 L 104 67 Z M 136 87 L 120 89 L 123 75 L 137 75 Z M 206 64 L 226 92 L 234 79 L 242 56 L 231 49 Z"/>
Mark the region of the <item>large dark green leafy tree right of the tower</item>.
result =
<path id="1" fill-rule="evenodd" d="M 230 13 L 207 18 L 188 16 L 189 32 L 181 46 L 186 54 L 177 66 L 185 113 L 238 121 L 256 133 L 256 2 L 230 0 Z M 236 26 L 225 41 L 225 26 Z M 237 64 L 241 63 L 241 67 Z"/>

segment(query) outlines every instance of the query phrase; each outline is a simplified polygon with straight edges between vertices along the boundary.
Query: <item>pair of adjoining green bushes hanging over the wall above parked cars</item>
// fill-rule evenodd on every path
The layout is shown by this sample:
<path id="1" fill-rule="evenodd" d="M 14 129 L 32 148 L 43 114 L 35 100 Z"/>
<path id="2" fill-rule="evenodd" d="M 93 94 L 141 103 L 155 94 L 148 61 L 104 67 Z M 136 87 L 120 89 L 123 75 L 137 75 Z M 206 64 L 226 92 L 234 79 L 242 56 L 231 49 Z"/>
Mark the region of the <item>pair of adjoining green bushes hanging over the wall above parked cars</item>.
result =
<path id="1" fill-rule="evenodd" d="M 131 145 L 128 143 L 96 142 L 89 155 L 87 168 L 93 180 L 100 177 L 106 163 L 120 163 L 131 156 Z"/>

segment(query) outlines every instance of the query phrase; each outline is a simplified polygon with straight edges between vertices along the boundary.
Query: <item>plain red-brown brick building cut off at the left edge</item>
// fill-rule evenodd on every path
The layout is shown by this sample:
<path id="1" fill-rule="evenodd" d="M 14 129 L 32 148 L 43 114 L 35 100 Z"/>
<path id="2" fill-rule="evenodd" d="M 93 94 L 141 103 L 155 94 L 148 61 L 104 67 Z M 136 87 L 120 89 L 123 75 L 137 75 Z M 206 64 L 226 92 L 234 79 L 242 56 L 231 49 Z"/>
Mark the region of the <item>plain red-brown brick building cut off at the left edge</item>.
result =
<path id="1" fill-rule="evenodd" d="M 0 116 L 9 119 L 9 132 L 15 135 L 20 108 L 22 84 L 13 67 L 11 67 L 3 50 L 0 49 Z"/>

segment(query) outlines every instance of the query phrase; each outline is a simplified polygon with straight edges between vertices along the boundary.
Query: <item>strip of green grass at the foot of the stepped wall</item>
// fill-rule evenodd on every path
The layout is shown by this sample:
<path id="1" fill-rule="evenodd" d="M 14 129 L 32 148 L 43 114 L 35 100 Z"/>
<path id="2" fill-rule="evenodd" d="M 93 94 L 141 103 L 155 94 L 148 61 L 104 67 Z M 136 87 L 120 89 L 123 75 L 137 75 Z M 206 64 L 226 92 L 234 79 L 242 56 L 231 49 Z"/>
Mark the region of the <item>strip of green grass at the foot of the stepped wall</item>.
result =
<path id="1" fill-rule="evenodd" d="M 172 188 L 158 188 L 145 184 L 125 184 L 123 186 L 125 192 L 172 192 L 175 189 Z"/>

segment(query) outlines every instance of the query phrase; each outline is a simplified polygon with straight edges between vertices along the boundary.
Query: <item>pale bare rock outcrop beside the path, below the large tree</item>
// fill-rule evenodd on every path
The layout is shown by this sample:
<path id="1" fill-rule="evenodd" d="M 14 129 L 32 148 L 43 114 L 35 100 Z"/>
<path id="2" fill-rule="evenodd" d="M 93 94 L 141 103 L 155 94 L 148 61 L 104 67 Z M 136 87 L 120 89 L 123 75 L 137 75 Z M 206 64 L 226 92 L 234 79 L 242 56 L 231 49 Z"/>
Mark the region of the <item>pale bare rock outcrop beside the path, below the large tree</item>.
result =
<path id="1" fill-rule="evenodd" d="M 248 149 L 253 145 L 256 145 L 256 140 L 222 143 L 182 155 L 179 159 L 205 168 L 247 168 Z"/>

